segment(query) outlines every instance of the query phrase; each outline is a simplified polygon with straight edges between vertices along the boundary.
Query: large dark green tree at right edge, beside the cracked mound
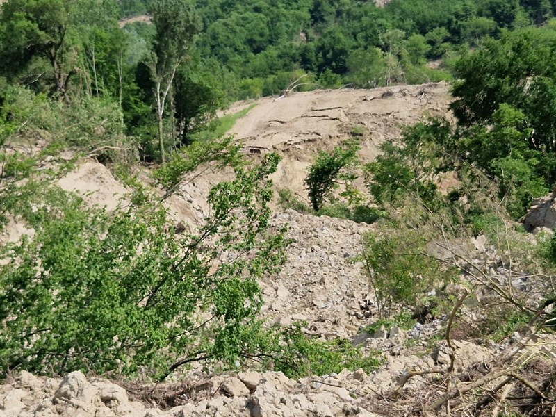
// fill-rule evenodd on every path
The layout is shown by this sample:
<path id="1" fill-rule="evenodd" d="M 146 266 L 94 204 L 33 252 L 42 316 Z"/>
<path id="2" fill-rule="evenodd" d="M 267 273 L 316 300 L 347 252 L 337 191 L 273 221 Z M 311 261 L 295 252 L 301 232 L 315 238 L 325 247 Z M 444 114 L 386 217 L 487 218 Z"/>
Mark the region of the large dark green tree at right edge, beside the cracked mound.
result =
<path id="1" fill-rule="evenodd" d="M 522 113 L 528 126 L 528 148 L 543 158 L 534 170 L 547 183 L 556 179 L 553 153 L 556 151 L 556 34 L 547 28 L 528 28 L 505 33 L 500 40 L 487 39 L 480 49 L 457 64 L 459 81 L 451 107 L 461 126 L 496 124 L 502 104 Z"/>

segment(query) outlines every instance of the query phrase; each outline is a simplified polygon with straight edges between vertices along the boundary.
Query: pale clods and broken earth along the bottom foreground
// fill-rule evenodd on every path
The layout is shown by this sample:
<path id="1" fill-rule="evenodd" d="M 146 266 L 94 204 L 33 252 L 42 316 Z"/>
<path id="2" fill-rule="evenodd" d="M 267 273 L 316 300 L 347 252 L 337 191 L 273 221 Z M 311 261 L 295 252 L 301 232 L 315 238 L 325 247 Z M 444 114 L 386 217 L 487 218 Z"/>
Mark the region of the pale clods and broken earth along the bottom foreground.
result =
<path id="1" fill-rule="evenodd" d="M 457 347 L 461 366 L 489 357 L 488 350 L 471 343 L 461 342 Z M 373 417 L 377 414 L 370 409 L 381 410 L 370 398 L 393 391 L 404 371 L 445 366 L 446 360 L 445 352 L 439 349 L 430 357 L 390 360 L 372 375 L 363 370 L 343 370 L 293 380 L 282 373 L 249 371 L 213 377 L 192 375 L 181 384 L 140 389 L 138 384 L 87 378 L 80 371 L 61 379 L 35 377 L 24 371 L 0 386 L 0 416 Z M 405 389 L 417 392 L 424 383 L 422 377 L 414 378 Z M 131 398 L 122 386 L 128 388 Z M 157 404 L 149 404 L 154 399 Z M 389 410 L 383 411 L 389 414 Z"/>

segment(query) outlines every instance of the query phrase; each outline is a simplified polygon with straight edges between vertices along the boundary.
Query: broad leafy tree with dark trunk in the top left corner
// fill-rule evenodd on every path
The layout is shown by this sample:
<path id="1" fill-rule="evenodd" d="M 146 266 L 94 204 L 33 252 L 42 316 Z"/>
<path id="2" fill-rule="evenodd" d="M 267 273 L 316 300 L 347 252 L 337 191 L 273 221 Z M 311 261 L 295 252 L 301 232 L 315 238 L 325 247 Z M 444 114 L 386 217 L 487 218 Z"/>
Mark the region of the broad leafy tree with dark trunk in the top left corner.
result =
<path id="1" fill-rule="evenodd" d="M 90 79 L 99 84 L 95 47 L 91 47 L 95 42 L 90 42 L 95 37 L 90 35 L 96 33 L 98 38 L 101 32 L 111 35 L 110 43 L 115 42 L 119 32 L 115 8 L 108 2 L 7 1 L 0 13 L 0 38 L 10 42 L 0 46 L 0 71 L 14 81 L 21 77 L 35 90 L 46 84 L 53 95 L 69 101 L 72 81 L 78 75 L 87 82 L 86 72 L 92 70 Z M 88 54 L 83 54 L 83 42 Z M 106 40 L 101 43 L 105 44 L 105 51 L 117 48 L 108 46 Z M 93 65 L 81 65 L 83 58 L 92 58 Z"/>

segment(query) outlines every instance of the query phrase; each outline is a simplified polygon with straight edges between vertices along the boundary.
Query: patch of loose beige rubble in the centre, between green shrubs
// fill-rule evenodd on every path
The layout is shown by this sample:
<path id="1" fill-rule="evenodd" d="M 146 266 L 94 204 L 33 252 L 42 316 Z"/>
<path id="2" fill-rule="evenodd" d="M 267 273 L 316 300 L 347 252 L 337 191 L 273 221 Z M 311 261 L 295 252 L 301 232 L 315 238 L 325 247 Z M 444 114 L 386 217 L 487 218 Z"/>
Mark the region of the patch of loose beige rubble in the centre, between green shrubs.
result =
<path id="1" fill-rule="evenodd" d="M 355 261 L 361 250 L 361 234 L 368 224 L 315 217 L 288 210 L 277 213 L 276 226 L 288 224 L 287 261 L 279 277 L 261 283 L 265 318 L 288 325 L 306 320 L 313 334 L 325 338 L 349 338 L 362 324 L 359 301 L 368 288 Z"/>

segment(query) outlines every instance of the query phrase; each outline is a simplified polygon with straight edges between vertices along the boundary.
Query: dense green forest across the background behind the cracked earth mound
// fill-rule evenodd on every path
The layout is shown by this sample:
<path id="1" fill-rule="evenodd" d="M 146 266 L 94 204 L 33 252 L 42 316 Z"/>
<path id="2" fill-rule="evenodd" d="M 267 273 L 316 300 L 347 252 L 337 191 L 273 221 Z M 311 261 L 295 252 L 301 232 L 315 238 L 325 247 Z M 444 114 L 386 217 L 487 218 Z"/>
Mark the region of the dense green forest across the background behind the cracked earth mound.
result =
<path id="1" fill-rule="evenodd" d="M 66 104 L 103 101 L 155 161 L 236 99 L 452 80 L 459 57 L 486 39 L 530 26 L 546 38 L 555 12 L 548 0 L 11 0 L 1 97 L 17 86 Z M 153 24 L 118 24 L 140 13 Z"/>

